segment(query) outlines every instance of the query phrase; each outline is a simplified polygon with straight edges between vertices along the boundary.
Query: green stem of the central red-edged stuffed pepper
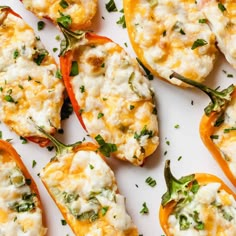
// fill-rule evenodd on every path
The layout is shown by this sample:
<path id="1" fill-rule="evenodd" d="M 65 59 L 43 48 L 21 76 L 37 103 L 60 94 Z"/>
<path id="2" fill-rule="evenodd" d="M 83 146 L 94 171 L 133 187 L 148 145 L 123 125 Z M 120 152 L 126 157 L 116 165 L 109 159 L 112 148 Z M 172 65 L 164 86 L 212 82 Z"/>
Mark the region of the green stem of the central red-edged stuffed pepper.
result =
<path id="1" fill-rule="evenodd" d="M 63 56 L 67 51 L 73 49 L 73 47 L 76 46 L 76 44 L 78 44 L 79 42 L 81 42 L 81 40 L 83 40 L 85 38 L 85 31 L 76 31 L 73 32 L 69 29 L 67 29 L 64 25 L 62 25 L 61 23 L 58 23 L 58 26 L 60 27 L 65 40 L 61 41 L 61 49 L 60 49 L 60 54 L 59 56 Z"/>

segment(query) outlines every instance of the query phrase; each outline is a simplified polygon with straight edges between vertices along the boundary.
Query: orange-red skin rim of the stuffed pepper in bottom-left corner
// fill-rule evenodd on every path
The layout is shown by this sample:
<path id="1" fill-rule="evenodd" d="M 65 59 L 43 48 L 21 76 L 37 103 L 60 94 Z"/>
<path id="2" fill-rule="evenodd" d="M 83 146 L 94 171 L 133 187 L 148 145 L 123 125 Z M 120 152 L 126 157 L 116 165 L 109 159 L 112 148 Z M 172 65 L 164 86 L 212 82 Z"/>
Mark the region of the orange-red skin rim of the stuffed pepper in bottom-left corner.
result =
<path id="1" fill-rule="evenodd" d="M 44 211 L 43 211 L 43 208 L 42 208 L 42 205 L 41 205 L 41 201 L 40 201 L 40 195 L 39 195 L 39 192 L 38 192 L 38 188 L 33 180 L 33 178 L 31 177 L 30 173 L 28 172 L 27 168 L 25 167 L 24 163 L 22 162 L 19 154 L 16 152 L 16 150 L 13 148 L 13 146 L 9 143 L 9 142 L 6 142 L 4 140 L 0 140 L 0 153 L 1 153 L 1 160 L 0 160 L 0 163 L 1 165 L 4 165 L 6 163 L 8 163 L 9 166 L 13 165 L 12 163 L 14 163 L 15 167 L 13 169 L 17 169 L 17 170 L 20 170 L 20 172 L 22 173 L 22 175 L 24 176 L 24 179 L 25 181 L 28 180 L 30 181 L 30 184 L 29 184 L 29 187 L 30 187 L 30 190 L 31 190 L 31 194 L 35 194 L 35 197 L 33 197 L 33 203 L 34 203 L 34 208 L 31 209 L 31 210 L 28 210 L 29 211 L 29 214 L 31 212 L 35 212 L 37 211 L 38 214 L 41 214 L 41 222 L 40 220 L 37 222 L 37 223 L 41 223 L 41 225 L 37 225 L 37 227 L 41 227 L 40 228 L 40 231 L 38 231 L 37 235 L 39 236 L 43 236 L 43 235 L 46 235 L 46 228 L 44 228 L 43 225 L 45 225 L 45 215 L 44 215 Z M 4 169 L 4 171 L 6 171 L 6 169 Z M 10 176 L 9 176 L 10 177 Z M 1 181 L 4 181 L 4 179 L 2 179 Z M 16 180 L 16 183 L 17 180 Z M 12 181 L 11 184 L 16 184 L 14 181 Z M 4 183 L 6 184 L 6 183 Z M 25 185 L 27 185 L 27 183 L 23 183 L 22 185 L 20 186 L 17 186 L 17 191 L 15 192 L 15 195 L 16 196 L 19 196 L 19 194 L 21 193 L 20 192 L 20 188 L 21 187 L 25 187 Z M 1 186 L 5 186 L 5 185 L 2 185 Z M 22 191 L 22 190 L 21 190 Z M 14 194 L 14 188 L 12 188 L 11 190 L 12 192 L 12 195 Z M 24 193 L 26 192 L 26 188 L 24 189 Z M 13 195 L 14 196 L 14 195 Z M 1 196 L 2 197 L 2 196 Z M 18 197 L 19 198 L 19 197 Z M 15 211 L 15 210 L 14 210 Z M 12 214 L 13 210 L 10 211 L 9 214 Z M 19 213 L 20 212 L 20 213 Z M 23 214 L 25 214 L 24 212 L 22 212 Z M 19 217 L 20 217 L 20 214 L 22 214 L 20 210 L 18 210 L 18 213 L 19 214 Z M 17 217 L 17 216 L 16 216 Z M 38 216 L 37 216 L 38 217 Z M 9 216 L 9 219 L 10 219 L 10 216 Z M 27 219 L 27 218 L 26 218 Z M 15 221 L 15 220 L 14 220 Z M 17 222 L 17 221 L 16 221 Z M 2 222 L 0 222 L 1 224 Z M 20 223 L 21 224 L 21 223 Z M 22 225 L 20 225 L 18 227 L 23 227 Z M 13 227 L 12 227 L 13 228 Z M 30 230 L 30 229 L 29 229 Z M 28 229 L 26 229 L 26 231 L 28 231 Z M 24 232 L 24 233 L 27 233 L 27 232 Z M 4 231 L 5 232 L 5 231 Z M 10 233 L 10 232 L 9 232 Z"/>

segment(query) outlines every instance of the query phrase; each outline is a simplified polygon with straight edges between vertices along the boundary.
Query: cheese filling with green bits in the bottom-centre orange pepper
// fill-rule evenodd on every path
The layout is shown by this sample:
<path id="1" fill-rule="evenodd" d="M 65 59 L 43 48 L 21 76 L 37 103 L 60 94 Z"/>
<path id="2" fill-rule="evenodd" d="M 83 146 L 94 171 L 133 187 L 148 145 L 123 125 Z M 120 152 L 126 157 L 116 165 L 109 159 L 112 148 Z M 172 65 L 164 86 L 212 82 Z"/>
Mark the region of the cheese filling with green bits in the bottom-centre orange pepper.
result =
<path id="1" fill-rule="evenodd" d="M 126 235 L 134 228 L 125 199 L 117 193 L 114 174 L 96 152 L 61 156 L 40 176 L 76 235 Z"/>

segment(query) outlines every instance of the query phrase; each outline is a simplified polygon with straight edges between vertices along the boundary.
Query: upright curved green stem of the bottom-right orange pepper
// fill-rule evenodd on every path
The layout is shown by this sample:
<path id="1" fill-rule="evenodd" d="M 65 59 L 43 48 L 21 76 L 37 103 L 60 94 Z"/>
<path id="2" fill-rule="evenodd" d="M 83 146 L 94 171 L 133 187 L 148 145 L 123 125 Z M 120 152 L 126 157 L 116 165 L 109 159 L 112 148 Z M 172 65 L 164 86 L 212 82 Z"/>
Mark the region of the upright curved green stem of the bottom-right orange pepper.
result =
<path id="1" fill-rule="evenodd" d="M 167 192 L 162 196 L 162 206 L 166 206 L 171 201 L 178 201 L 179 199 L 186 198 L 185 192 L 190 191 L 188 186 L 195 180 L 195 175 L 187 175 L 176 179 L 170 170 L 170 160 L 165 163 L 164 176 L 167 186 Z"/>

